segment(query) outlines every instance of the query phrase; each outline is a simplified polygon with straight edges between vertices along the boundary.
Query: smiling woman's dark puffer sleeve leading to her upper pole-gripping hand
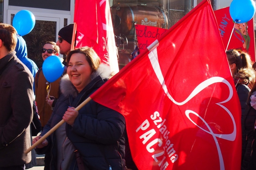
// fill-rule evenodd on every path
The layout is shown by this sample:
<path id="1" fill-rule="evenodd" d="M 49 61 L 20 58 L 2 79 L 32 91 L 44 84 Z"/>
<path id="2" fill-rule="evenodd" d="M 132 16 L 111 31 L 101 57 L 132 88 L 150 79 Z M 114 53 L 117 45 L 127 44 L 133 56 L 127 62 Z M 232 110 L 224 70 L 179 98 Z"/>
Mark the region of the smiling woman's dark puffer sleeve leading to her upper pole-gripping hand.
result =
<path id="1" fill-rule="evenodd" d="M 93 109 L 92 114 L 85 114 Z M 125 118 L 120 113 L 91 100 L 87 109 L 81 109 L 75 119 L 72 132 L 103 144 L 114 144 L 123 135 Z M 85 112 L 85 113 L 83 113 Z M 97 115 L 94 115 L 97 112 Z"/>

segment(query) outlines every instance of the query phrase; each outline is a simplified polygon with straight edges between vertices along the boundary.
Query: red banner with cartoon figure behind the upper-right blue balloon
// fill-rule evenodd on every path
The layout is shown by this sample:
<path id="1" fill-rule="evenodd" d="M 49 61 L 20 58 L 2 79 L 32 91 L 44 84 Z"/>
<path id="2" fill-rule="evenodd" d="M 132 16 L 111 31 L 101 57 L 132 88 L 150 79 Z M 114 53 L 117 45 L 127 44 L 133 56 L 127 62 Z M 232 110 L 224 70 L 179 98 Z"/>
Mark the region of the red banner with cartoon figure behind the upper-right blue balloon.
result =
<path id="1" fill-rule="evenodd" d="M 214 11 L 214 14 L 217 19 L 219 32 L 221 33 L 225 49 L 227 48 L 228 40 L 230 38 L 232 29 L 234 28 L 227 50 L 237 49 L 240 52 L 245 51 L 250 54 L 252 60 L 255 61 L 255 35 L 253 19 L 245 23 L 234 24 L 234 21 L 229 13 L 229 7 L 216 10 Z"/>

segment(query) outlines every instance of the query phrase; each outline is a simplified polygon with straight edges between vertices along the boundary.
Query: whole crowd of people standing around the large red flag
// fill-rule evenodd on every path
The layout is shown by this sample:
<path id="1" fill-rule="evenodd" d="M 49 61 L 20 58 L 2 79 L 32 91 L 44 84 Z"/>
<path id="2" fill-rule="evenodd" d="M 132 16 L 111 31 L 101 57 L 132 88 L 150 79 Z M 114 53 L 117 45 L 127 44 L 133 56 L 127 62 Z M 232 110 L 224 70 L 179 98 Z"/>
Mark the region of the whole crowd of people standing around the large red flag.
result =
<path id="1" fill-rule="evenodd" d="M 136 166 L 125 157 L 126 123 L 122 114 L 91 100 L 79 111 L 76 107 L 112 77 L 90 47 L 71 50 L 73 24 L 63 27 L 57 43 L 47 41 L 42 59 L 63 54 L 62 76 L 49 83 L 42 68 L 28 58 L 25 40 L 9 24 L 0 23 L 0 169 L 24 170 L 35 166 L 35 151 L 45 154 L 44 169 L 119 169 Z M 256 169 L 256 64 L 250 55 L 237 50 L 226 52 L 241 104 L 242 170 Z M 40 116 L 39 128 L 33 117 Z M 54 133 L 25 154 L 59 121 Z M 32 140 L 32 129 L 37 129 Z M 31 131 L 31 132 L 30 132 Z M 38 135 L 39 134 L 39 135 Z M 127 152 L 128 153 L 128 152 Z M 129 160 L 127 162 L 127 160 Z M 126 163 L 127 162 L 127 163 Z"/>

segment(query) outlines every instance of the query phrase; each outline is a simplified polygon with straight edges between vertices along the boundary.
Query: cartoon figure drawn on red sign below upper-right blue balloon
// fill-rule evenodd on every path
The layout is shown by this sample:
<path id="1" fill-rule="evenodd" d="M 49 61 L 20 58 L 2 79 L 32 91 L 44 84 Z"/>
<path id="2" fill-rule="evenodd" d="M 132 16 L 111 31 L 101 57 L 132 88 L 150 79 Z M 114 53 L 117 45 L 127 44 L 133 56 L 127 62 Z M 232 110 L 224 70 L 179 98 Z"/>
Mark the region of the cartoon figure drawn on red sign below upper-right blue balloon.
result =
<path id="1" fill-rule="evenodd" d="M 248 51 L 251 39 L 248 35 L 248 22 L 235 24 L 233 34 L 243 43 L 243 48 Z"/>

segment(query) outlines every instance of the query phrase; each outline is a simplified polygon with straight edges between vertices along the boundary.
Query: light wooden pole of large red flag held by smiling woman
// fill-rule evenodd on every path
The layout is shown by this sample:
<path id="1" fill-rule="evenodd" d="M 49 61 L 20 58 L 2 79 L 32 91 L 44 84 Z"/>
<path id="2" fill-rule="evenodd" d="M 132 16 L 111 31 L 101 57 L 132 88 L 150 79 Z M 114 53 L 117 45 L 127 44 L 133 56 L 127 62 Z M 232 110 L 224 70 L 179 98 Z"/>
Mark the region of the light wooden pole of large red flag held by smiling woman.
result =
<path id="1" fill-rule="evenodd" d="M 86 105 L 89 101 L 91 100 L 90 97 L 88 97 L 87 99 L 85 99 L 85 101 L 83 101 L 79 106 L 77 106 L 75 108 L 75 111 L 79 111 L 84 105 Z M 49 130 L 44 136 L 42 136 L 38 141 L 36 141 L 30 148 L 28 148 L 25 151 L 25 154 L 28 154 L 30 151 L 32 151 L 32 149 L 34 149 L 37 145 L 39 145 L 40 143 L 42 143 L 44 141 L 44 139 L 46 139 L 48 136 L 50 136 L 56 129 L 59 128 L 59 126 L 61 126 L 63 123 L 65 123 L 65 120 L 61 120 L 59 123 L 57 123 L 51 130 Z"/>

